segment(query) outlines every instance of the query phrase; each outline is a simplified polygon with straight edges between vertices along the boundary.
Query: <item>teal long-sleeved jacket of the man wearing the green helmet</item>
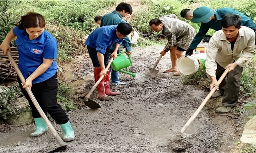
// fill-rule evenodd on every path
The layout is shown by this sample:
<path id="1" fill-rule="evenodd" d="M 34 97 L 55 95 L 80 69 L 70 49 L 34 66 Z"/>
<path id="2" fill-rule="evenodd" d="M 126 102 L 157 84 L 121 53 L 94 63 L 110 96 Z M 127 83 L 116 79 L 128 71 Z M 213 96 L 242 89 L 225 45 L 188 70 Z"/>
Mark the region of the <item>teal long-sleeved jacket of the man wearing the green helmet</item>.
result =
<path id="1" fill-rule="evenodd" d="M 256 32 L 255 24 L 249 17 L 245 16 L 244 14 L 242 14 L 241 12 L 239 12 L 233 8 L 220 8 L 220 9 L 215 10 L 216 20 L 211 20 L 208 23 L 201 24 L 199 31 L 198 31 L 197 35 L 194 37 L 189 48 L 190 49 L 197 48 L 198 44 L 201 42 L 201 40 L 204 38 L 204 36 L 206 35 L 206 33 L 208 32 L 208 30 L 210 28 L 214 29 L 216 31 L 221 30 L 222 29 L 221 20 L 228 13 L 240 15 L 242 17 L 241 25 L 249 27 Z"/>

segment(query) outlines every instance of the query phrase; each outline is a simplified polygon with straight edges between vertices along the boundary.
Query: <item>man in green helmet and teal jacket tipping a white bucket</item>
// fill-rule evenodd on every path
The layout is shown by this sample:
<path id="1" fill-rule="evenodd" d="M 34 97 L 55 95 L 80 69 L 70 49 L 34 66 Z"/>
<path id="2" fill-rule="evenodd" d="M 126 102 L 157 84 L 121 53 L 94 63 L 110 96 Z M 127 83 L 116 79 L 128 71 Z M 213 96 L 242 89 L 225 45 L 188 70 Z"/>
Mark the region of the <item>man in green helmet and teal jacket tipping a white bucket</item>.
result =
<path id="1" fill-rule="evenodd" d="M 191 21 L 194 23 L 201 22 L 202 24 L 197 35 L 194 37 L 189 49 L 186 51 L 186 56 L 193 54 L 193 50 L 197 48 L 198 44 L 201 42 L 201 40 L 210 28 L 216 31 L 222 29 L 221 20 L 228 13 L 240 15 L 242 17 L 241 25 L 249 27 L 256 32 L 254 22 L 249 17 L 245 16 L 244 14 L 233 8 L 220 8 L 214 10 L 206 6 L 198 7 L 193 11 L 193 17 L 191 18 Z"/>

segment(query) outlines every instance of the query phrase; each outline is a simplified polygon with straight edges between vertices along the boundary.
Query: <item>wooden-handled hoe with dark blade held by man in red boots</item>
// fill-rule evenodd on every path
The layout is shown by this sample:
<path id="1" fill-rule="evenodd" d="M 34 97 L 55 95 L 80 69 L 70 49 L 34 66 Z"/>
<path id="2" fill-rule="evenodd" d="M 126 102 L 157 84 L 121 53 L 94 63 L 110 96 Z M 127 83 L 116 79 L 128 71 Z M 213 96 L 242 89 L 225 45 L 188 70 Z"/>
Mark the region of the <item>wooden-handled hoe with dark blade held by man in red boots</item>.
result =
<path id="1" fill-rule="evenodd" d="M 108 65 L 107 65 L 107 67 L 106 67 L 107 70 L 109 69 L 109 67 L 110 67 L 110 65 L 111 65 L 111 63 L 112 63 L 112 61 L 113 61 L 113 59 L 114 59 L 113 57 L 110 59 Z M 89 93 L 87 93 L 87 95 L 84 97 L 84 103 L 85 103 L 85 105 L 88 106 L 88 107 L 91 108 L 91 109 L 98 109 L 98 108 L 101 108 L 100 105 L 99 105 L 97 102 L 95 102 L 95 101 L 93 101 L 93 100 L 90 99 L 90 96 L 92 95 L 93 91 L 96 89 L 96 87 L 99 85 L 100 81 L 101 81 L 103 78 L 104 78 L 104 75 L 100 76 L 99 80 L 94 84 L 94 86 L 93 86 L 92 89 L 89 91 Z"/>

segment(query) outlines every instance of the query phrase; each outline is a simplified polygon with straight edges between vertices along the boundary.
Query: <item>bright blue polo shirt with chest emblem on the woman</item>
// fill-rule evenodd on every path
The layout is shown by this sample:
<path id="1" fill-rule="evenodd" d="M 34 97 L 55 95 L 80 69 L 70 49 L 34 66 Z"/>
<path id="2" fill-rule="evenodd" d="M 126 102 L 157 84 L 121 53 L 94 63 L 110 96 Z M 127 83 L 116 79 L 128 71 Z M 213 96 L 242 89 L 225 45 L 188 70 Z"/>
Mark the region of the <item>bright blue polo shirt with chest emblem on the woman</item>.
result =
<path id="1" fill-rule="evenodd" d="M 42 63 L 43 59 L 53 59 L 51 66 L 32 83 L 40 83 L 49 78 L 57 72 L 57 41 L 47 31 L 37 37 L 36 39 L 29 40 L 29 35 L 25 29 L 13 28 L 13 33 L 17 36 L 15 44 L 19 51 L 19 63 L 18 67 L 27 79 Z"/>

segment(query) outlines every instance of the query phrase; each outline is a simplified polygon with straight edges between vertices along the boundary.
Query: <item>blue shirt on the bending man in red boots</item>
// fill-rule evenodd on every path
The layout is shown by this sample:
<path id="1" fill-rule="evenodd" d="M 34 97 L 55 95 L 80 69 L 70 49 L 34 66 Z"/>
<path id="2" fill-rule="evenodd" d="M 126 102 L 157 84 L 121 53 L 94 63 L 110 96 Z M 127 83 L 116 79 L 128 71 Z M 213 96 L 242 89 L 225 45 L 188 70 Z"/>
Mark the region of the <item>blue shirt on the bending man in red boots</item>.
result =
<path id="1" fill-rule="evenodd" d="M 96 49 L 101 54 L 105 54 L 106 50 L 110 50 L 115 43 L 121 44 L 123 41 L 123 39 L 117 37 L 116 27 L 117 25 L 111 25 L 97 28 L 89 35 L 85 45 Z"/>

